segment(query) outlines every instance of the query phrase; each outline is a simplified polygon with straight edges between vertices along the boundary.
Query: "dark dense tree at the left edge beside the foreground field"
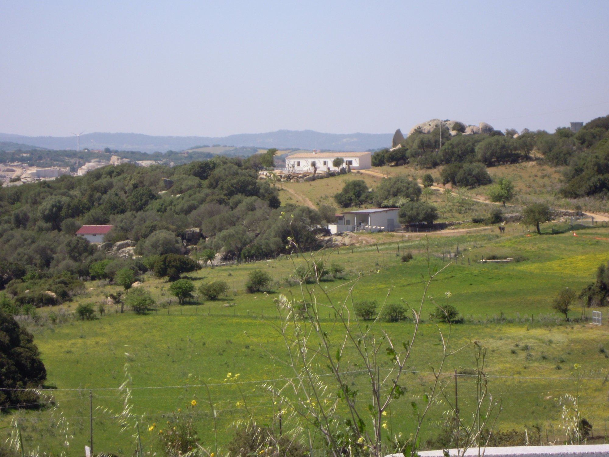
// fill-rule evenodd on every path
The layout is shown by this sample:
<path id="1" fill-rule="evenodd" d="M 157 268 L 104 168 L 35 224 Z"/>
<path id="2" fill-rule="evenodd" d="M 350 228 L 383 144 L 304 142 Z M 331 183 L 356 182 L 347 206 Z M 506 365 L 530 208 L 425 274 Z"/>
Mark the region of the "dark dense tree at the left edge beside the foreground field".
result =
<path id="1" fill-rule="evenodd" d="M 10 389 L 36 388 L 46 380 L 46 369 L 33 336 L 0 310 L 0 406 L 30 407 L 37 395 Z"/>

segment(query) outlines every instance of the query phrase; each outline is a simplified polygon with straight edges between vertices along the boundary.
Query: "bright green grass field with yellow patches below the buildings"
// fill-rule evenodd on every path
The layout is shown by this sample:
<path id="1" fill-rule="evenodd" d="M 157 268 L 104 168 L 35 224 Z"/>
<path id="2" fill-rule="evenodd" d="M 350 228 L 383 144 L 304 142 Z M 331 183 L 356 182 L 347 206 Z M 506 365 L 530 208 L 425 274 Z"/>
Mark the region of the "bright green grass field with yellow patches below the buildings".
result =
<path id="1" fill-rule="evenodd" d="M 609 365 L 605 352 L 609 350 L 605 348 L 609 346 L 607 325 L 565 323 L 552 311 L 551 302 L 559 289 L 568 286 L 579 291 L 593 281 L 597 266 L 609 260 L 609 241 L 603 239 L 609 238 L 609 229 L 582 230 L 580 236 L 575 237 L 571 232 L 528 235 L 516 225 L 508 227 L 503 236 L 493 231 L 432 236 L 429 241 L 395 238 L 382 243 L 387 238 L 379 234 L 378 247 L 355 247 L 353 252 L 342 247 L 338 252 L 319 253 L 328 257 L 329 263 L 340 263 L 347 270 L 343 280 L 320 283 L 328 299 L 345 299 L 353 286 L 355 301 L 375 299 L 382 303 L 388 297 L 387 303 L 404 300 L 415 305 L 421 299 L 422 278 L 428 275 L 428 267 L 448 264 L 448 253 L 456 252 L 459 246 L 461 257 L 434 279 L 424 302 L 424 323 L 409 361 L 408 369 L 412 373 L 401 381 L 407 392 L 393 403 L 389 431 L 406 434 L 412 431 L 410 402 L 422 402 L 421 394 L 431 381 L 429 372 L 431 367 L 437 367 L 440 357 L 438 327 L 429 321 L 428 314 L 434 302 L 445 303 L 445 292 L 451 292 L 449 303 L 456 306 L 465 319 L 465 323 L 452 326 L 451 347 L 457 348 L 475 339 L 488 348 L 490 391 L 501 398 L 503 406 L 498 425 L 501 430 L 523 430 L 538 425 L 544 440 L 546 431 L 550 441 L 553 436 L 562 439 L 557 401 L 563 394 L 574 393 L 571 371 L 578 363 L 586 378 L 580 408 L 590 415 L 594 434 L 605 433 L 604 424 L 609 419 L 606 407 L 602 406 L 607 395 L 604 378 Z M 412 252 L 412 261 L 401 262 L 398 241 L 400 254 Z M 477 262 L 489 255 L 520 256 L 523 260 L 509 264 Z M 231 424 L 247 416 L 245 406 L 261 423 L 269 422 L 273 411 L 276 412 L 276 399 L 266 392 L 262 383 L 278 384 L 281 378 L 292 375 L 271 358 L 271 355 L 281 358 L 286 353 L 280 336 L 272 330 L 271 324 L 277 322 L 272 299 L 279 294 L 298 295 L 298 288 L 286 286 L 283 278 L 292 274 L 294 264 L 303 261 L 299 256 L 206 267 L 191 275 L 195 284 L 203 278 L 225 280 L 230 285 L 228 296 L 213 302 L 193 300 L 184 306 L 178 306 L 175 299 L 167 306 L 171 299 L 168 283 L 146 277 L 144 286 L 163 305 L 147 315 L 120 314 L 108 309 L 105 316 L 95 321 L 71 320 L 63 325 L 30 327 L 48 369 L 48 384 L 57 388 L 50 394 L 58 406 L 41 411 L 5 412 L 2 425 L 18 417 L 26 448 L 40 446 L 42 451 L 57 455 L 63 442 L 56 427 L 61 412 L 74 435 L 69 439 L 68 455 L 82 455 L 89 439 L 89 391 L 92 389 L 96 452 L 131 455 L 135 449 L 133 428 L 121 432 L 119 420 L 114 417 L 122 410 L 118 386 L 125 378 L 127 363 L 132 378 L 133 411 L 144 415 L 142 439 L 150 455 L 160 452 L 157 430 L 177 408 L 194 419 L 205 446 L 214 443 L 211 417 L 215 409 L 218 441 L 225 449 L 234 434 Z M 275 280 L 273 291 L 268 295 L 245 294 L 243 285 L 247 275 L 258 268 L 269 272 Z M 66 307 L 74 310 L 79 302 L 99 302 L 110 292 L 118 291 L 116 286 L 103 283 L 91 283 L 88 288 L 91 289 Z M 317 295 L 322 297 L 320 292 Z M 226 303 L 235 305 L 223 306 Z M 590 310 L 586 313 L 589 315 Z M 578 308 L 571 311 L 572 318 L 581 314 Z M 328 325 L 331 321 L 332 316 L 328 316 Z M 400 342 L 409 338 L 413 327 L 412 322 L 381 323 L 378 330 L 375 327 L 373 331 L 383 328 Z M 446 332 L 448 327 L 441 324 L 439 329 Z M 353 362 L 354 358 L 349 356 L 345 369 L 361 369 Z M 466 347 L 448 359 L 445 372 L 450 375 L 454 369 L 472 367 L 473 351 Z M 320 367 L 320 370 L 325 369 Z M 227 373 L 238 373 L 239 385 L 225 381 Z M 351 374 L 348 381 L 353 388 L 365 392 L 364 376 Z M 473 385 L 466 377 L 460 378 L 459 383 L 460 404 L 466 411 L 473 399 Z M 204 384 L 208 385 L 213 408 L 208 403 Z M 189 406 L 192 400 L 197 402 L 194 407 Z M 437 434 L 436 422 L 441 414 L 440 407 L 432 411 L 424 439 Z M 149 431 L 153 423 L 155 429 Z M 8 434 L 6 430 L 1 433 L 2 436 Z"/>

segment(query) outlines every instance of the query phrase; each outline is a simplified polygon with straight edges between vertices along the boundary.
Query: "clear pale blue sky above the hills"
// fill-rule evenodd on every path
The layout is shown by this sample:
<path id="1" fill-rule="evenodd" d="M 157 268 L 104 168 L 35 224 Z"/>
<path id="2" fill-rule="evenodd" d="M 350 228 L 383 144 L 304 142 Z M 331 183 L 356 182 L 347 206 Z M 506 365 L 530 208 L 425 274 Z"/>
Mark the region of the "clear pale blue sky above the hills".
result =
<path id="1" fill-rule="evenodd" d="M 609 114 L 609 1 L 0 2 L 0 132 L 553 132 Z"/>

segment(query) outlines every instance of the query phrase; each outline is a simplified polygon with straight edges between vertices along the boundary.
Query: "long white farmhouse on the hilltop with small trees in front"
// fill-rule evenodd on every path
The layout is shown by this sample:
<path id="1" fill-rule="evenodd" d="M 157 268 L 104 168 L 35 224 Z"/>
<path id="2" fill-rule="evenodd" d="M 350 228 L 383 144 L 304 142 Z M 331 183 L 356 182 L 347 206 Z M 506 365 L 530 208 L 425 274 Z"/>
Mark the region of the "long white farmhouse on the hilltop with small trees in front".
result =
<path id="1" fill-rule="evenodd" d="M 341 166 L 334 166 L 335 158 L 344 160 Z M 350 166 L 352 170 L 365 170 L 372 166 L 371 152 L 297 152 L 286 157 L 286 171 L 303 172 L 313 171 L 336 171 L 342 167 Z"/>

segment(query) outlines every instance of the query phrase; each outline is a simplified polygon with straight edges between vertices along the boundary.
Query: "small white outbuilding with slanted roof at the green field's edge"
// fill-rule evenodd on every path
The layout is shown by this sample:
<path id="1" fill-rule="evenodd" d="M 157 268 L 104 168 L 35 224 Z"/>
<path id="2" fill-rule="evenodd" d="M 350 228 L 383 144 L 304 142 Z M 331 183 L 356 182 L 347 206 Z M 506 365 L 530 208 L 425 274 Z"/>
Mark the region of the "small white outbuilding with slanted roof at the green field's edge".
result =
<path id="1" fill-rule="evenodd" d="M 328 224 L 331 233 L 340 232 L 393 232 L 400 227 L 400 208 L 371 208 L 370 210 L 345 211 L 336 224 Z"/>

